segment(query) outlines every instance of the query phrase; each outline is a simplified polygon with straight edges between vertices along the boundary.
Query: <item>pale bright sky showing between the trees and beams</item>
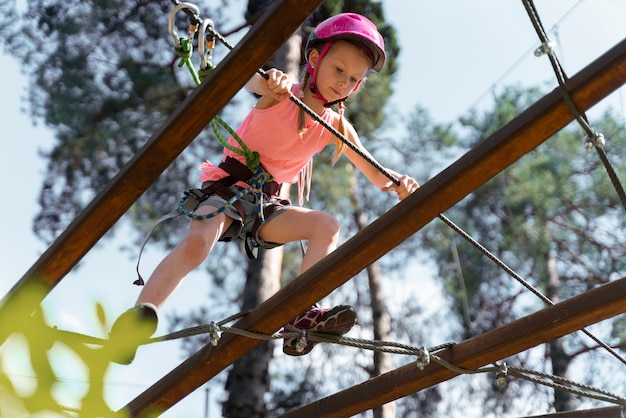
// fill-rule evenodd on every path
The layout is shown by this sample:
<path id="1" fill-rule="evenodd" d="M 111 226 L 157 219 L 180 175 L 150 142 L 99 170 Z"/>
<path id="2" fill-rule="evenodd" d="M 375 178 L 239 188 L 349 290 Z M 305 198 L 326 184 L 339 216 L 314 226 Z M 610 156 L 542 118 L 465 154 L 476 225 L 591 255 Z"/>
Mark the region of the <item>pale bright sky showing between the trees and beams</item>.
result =
<path id="1" fill-rule="evenodd" d="M 521 1 L 386 0 L 384 4 L 402 47 L 393 98 L 394 111 L 400 116 L 420 104 L 436 120 L 449 122 L 472 106 L 488 103 L 489 92 L 494 87 L 544 82 L 550 89 L 556 86 L 548 59 L 533 55 L 538 38 Z M 546 30 L 558 23 L 558 30 L 550 32 L 550 36 L 558 43 L 557 54 L 569 76 L 626 35 L 623 0 L 542 0 L 536 1 L 536 7 Z M 168 36 L 165 19 L 163 36 Z M 54 138 L 45 127 L 33 126 L 23 111 L 22 99 L 29 79 L 22 71 L 28 69 L 21 69 L 9 56 L 0 56 L 0 62 L 3 68 L 0 123 L 4 143 L 0 178 L 4 179 L 2 193 L 8 203 L 0 208 L 0 251 L 4 254 L 4 262 L 0 263 L 0 295 L 4 295 L 45 250 L 31 228 L 37 193 L 45 175 L 45 161 L 38 152 L 49 148 Z M 603 106 L 610 104 L 624 115 L 623 100 L 622 89 L 605 100 Z M 589 114 L 593 116 L 593 110 Z M 95 302 L 104 304 L 109 321 L 132 306 L 138 292 L 131 285 L 136 260 L 117 251 L 125 244 L 123 235 L 99 244 L 51 292 L 45 300 L 51 325 L 93 335 L 98 333 Z M 146 275 L 160 256 L 148 251 L 142 260 Z M 201 277 L 190 277 L 164 307 L 162 318 L 172 311 L 185 312 L 200 306 L 208 292 L 205 282 Z M 393 284 L 388 286 L 389 292 L 393 292 Z M 161 321 L 158 333 L 166 332 L 165 322 Z M 110 371 L 107 402 L 114 409 L 122 407 L 180 361 L 176 343 L 142 348 L 132 365 L 114 366 Z M 24 387 L 32 384 L 28 372 L 7 369 L 7 364 L 4 367 L 15 376 L 25 376 L 20 379 Z M 81 390 L 81 381 L 85 379 L 81 370 L 64 370 L 59 374 L 67 378 L 64 382 L 67 393 Z M 163 416 L 202 418 L 204 396 L 204 390 L 198 390 Z M 219 415 L 219 409 L 213 406 L 210 416 Z"/>

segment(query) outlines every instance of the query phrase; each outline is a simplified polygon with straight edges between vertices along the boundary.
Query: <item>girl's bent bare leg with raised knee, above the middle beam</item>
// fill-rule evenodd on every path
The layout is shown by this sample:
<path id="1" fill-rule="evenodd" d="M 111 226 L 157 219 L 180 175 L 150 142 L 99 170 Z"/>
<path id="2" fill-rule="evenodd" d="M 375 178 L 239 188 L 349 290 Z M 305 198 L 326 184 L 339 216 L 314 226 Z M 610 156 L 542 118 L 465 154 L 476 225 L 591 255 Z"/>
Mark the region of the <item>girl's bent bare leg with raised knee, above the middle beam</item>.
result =
<path id="1" fill-rule="evenodd" d="M 337 248 L 339 222 L 328 213 L 292 206 L 268 221 L 259 235 L 267 242 L 308 241 L 302 273 Z"/>

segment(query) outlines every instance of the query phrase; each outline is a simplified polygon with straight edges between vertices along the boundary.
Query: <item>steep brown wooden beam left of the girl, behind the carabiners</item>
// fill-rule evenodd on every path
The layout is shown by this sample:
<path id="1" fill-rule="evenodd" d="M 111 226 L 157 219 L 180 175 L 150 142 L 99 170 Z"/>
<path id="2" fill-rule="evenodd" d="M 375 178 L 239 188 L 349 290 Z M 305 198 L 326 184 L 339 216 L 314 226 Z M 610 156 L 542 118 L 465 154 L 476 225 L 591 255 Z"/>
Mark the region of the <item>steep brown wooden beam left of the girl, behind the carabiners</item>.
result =
<path id="1" fill-rule="evenodd" d="M 3 297 L 0 317 L 34 311 L 321 2 L 276 1 Z"/>

